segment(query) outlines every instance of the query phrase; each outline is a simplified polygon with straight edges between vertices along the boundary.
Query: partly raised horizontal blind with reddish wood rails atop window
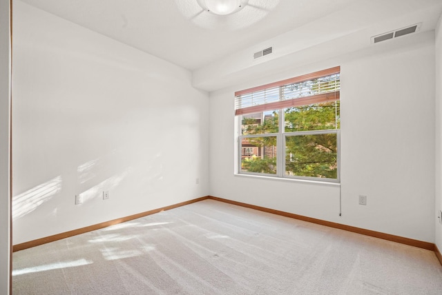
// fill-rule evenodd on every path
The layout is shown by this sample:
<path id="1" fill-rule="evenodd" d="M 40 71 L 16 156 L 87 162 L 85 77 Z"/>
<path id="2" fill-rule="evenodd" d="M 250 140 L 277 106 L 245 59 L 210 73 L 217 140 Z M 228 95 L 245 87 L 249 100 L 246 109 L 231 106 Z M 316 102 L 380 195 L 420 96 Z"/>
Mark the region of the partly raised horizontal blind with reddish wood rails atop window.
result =
<path id="1" fill-rule="evenodd" d="M 339 100 L 340 67 L 235 92 L 235 114 Z"/>

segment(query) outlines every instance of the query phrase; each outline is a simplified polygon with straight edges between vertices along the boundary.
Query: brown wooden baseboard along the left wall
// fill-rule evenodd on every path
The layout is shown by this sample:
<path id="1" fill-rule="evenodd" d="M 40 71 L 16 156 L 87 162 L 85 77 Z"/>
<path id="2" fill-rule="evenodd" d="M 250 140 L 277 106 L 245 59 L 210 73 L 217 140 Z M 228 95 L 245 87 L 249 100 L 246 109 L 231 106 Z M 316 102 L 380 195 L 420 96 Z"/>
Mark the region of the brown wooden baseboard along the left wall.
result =
<path id="1" fill-rule="evenodd" d="M 124 223 L 126 221 L 131 221 L 133 219 L 141 218 L 141 217 L 144 217 L 144 216 L 148 216 L 148 215 L 155 214 L 155 213 L 162 212 L 162 211 L 166 211 L 166 210 L 171 210 L 171 209 L 176 208 L 176 207 L 181 207 L 181 206 L 184 206 L 184 205 L 189 205 L 191 203 L 196 203 L 196 202 L 203 201 L 203 200 L 206 200 L 206 199 L 209 199 L 209 196 L 202 196 L 201 198 L 198 198 L 198 199 L 193 199 L 193 200 L 190 200 L 190 201 L 185 201 L 185 202 L 182 202 L 182 203 L 177 203 L 177 204 L 166 206 L 166 207 L 161 207 L 161 208 L 158 208 L 158 209 L 142 212 L 142 213 L 139 213 L 139 214 L 134 214 L 134 215 L 131 215 L 131 216 L 126 216 L 126 217 L 114 219 L 112 221 L 106 221 L 104 223 L 98 223 L 96 225 L 90 225 L 90 226 L 87 226 L 87 227 L 81 227 L 78 230 L 71 230 L 69 232 L 62 232 L 61 234 L 55 234 L 53 236 L 46 236 L 45 238 L 39 238 L 37 240 L 33 240 L 33 241 L 26 242 L 26 243 L 21 243 L 21 244 L 14 245 L 12 247 L 12 251 L 13 252 L 17 252 L 17 251 L 20 251 L 20 250 L 28 249 L 30 247 L 35 247 L 35 246 L 38 246 L 38 245 L 43 245 L 43 244 L 46 244 L 46 243 L 58 241 L 58 240 L 61 240 L 62 238 L 68 238 L 70 236 L 76 236 L 77 234 L 84 234 L 85 232 L 92 232 L 93 230 L 99 230 L 99 229 L 102 229 L 104 227 L 108 227 L 108 226 L 115 225 L 115 224 L 118 224 L 118 223 Z"/>

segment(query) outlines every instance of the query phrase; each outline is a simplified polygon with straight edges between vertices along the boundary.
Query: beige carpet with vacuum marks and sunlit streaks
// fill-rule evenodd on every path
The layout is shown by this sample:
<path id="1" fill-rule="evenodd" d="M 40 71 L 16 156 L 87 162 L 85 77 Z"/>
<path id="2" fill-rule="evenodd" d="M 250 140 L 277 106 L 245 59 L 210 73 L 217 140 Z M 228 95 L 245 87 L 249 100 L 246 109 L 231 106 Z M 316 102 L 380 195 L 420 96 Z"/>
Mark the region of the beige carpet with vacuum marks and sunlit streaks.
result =
<path id="1" fill-rule="evenodd" d="M 13 294 L 442 294 L 433 252 L 206 200 L 15 252 Z"/>

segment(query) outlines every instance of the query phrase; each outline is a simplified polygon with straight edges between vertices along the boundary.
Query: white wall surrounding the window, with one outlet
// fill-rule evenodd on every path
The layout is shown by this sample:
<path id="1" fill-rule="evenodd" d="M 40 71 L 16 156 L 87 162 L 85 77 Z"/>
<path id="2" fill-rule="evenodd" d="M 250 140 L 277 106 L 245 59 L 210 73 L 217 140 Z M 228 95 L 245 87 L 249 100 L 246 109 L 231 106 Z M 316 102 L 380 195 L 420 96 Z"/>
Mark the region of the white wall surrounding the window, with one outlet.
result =
<path id="1" fill-rule="evenodd" d="M 341 185 L 234 176 L 233 92 L 341 66 Z M 210 194 L 434 242 L 434 32 L 211 92 Z M 367 205 L 358 205 L 358 195 Z"/>

